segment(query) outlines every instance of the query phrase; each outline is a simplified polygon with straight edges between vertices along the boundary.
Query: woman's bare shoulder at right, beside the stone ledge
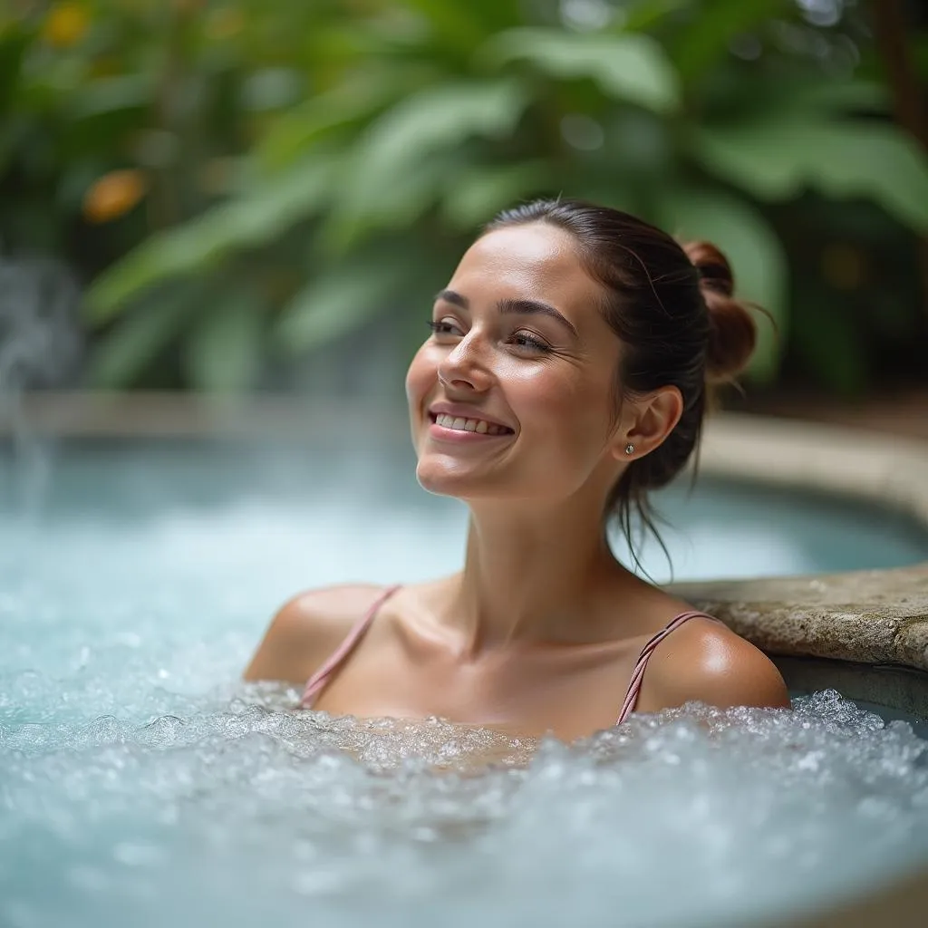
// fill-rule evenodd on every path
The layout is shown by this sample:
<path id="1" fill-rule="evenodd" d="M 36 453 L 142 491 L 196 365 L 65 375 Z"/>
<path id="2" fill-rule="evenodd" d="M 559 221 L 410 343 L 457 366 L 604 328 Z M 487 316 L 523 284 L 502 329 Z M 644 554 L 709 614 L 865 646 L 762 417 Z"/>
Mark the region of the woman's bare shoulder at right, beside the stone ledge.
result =
<path id="1" fill-rule="evenodd" d="M 638 711 L 656 712 L 690 700 L 725 709 L 789 707 L 780 671 L 730 628 L 696 617 L 664 638 L 644 675 Z"/>

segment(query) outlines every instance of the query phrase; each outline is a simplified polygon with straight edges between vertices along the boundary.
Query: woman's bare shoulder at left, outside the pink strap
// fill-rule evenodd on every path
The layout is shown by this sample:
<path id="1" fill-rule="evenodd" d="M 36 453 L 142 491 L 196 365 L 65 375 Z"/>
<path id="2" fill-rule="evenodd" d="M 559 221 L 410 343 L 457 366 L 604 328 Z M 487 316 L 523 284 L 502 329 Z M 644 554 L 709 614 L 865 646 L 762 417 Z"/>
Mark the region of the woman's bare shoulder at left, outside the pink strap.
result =
<path id="1" fill-rule="evenodd" d="M 376 584 L 341 584 L 293 597 L 271 620 L 244 679 L 305 683 L 384 588 Z"/>

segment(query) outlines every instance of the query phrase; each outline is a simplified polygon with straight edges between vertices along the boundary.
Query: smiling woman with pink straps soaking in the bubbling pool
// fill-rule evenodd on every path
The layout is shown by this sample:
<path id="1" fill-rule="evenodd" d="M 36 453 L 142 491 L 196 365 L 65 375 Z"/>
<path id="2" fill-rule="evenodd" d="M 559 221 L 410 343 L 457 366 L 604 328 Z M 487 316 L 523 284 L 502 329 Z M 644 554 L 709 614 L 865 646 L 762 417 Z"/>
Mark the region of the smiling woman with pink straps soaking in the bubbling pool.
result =
<path id="1" fill-rule="evenodd" d="M 304 593 L 245 678 L 306 684 L 301 704 L 333 715 L 566 741 L 689 700 L 788 706 L 763 653 L 606 541 L 633 509 L 650 526 L 647 492 L 698 444 L 706 380 L 750 356 L 732 289 L 713 246 L 625 213 L 540 200 L 497 216 L 406 375 L 419 483 L 470 508 L 463 571 Z"/>

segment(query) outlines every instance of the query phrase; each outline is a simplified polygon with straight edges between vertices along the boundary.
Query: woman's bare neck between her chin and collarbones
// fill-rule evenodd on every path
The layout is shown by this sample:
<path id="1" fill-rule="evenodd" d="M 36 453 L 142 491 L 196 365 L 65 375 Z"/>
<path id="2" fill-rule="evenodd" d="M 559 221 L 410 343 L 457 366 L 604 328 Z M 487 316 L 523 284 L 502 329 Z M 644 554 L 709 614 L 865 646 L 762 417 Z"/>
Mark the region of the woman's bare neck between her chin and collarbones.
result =
<path id="1" fill-rule="evenodd" d="M 602 501 L 575 497 L 551 509 L 471 506 L 467 557 L 451 604 L 475 657 L 517 640 L 568 641 L 592 603 L 590 591 L 618 567 L 601 528 Z"/>

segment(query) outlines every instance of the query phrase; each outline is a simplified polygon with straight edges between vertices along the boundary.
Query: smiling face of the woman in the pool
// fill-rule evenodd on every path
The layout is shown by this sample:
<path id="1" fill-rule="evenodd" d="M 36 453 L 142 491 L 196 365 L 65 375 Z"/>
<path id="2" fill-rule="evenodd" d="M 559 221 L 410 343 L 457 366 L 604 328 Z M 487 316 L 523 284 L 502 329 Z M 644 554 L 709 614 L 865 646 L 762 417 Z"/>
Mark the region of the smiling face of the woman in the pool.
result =
<path id="1" fill-rule="evenodd" d="M 602 298 L 561 229 L 510 226 L 474 242 L 406 374 L 426 490 L 550 502 L 614 470 L 620 342 Z"/>

